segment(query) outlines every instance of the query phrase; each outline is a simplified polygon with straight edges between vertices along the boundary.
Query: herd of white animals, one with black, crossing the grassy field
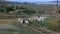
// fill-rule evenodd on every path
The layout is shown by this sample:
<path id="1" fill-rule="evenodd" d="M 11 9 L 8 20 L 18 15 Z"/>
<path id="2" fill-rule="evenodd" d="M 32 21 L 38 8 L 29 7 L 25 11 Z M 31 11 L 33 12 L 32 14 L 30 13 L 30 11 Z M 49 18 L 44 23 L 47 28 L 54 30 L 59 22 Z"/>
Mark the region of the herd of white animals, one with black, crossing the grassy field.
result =
<path id="1" fill-rule="evenodd" d="M 44 21 L 44 19 L 46 19 L 47 17 L 43 17 L 43 16 L 34 16 L 31 18 L 18 18 L 18 23 L 22 23 L 22 24 L 29 24 L 29 21 Z"/>

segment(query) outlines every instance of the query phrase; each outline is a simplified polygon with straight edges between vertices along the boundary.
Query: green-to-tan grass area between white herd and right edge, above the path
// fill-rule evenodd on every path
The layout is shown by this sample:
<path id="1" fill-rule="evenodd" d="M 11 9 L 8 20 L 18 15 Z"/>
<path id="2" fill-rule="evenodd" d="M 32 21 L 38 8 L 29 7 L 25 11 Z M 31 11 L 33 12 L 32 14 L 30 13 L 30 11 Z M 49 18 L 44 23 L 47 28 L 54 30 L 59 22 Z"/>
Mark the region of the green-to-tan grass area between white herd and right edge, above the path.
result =
<path id="1" fill-rule="evenodd" d="M 44 22 L 30 21 L 30 23 L 32 25 L 35 25 L 36 27 L 45 26 L 50 30 L 58 31 L 58 32 L 60 31 L 60 19 L 59 18 L 49 17 Z"/>

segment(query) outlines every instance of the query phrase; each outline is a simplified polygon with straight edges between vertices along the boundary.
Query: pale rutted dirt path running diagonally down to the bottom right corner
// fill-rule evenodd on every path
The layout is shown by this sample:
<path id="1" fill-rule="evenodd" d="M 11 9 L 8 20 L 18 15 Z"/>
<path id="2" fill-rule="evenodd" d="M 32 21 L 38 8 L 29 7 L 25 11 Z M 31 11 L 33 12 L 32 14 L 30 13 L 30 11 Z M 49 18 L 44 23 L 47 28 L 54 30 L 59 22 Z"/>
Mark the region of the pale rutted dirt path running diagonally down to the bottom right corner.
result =
<path id="1" fill-rule="evenodd" d="M 42 33 L 42 34 L 60 34 L 60 32 L 55 32 L 55 31 L 48 30 L 46 27 L 36 27 L 34 25 L 32 25 L 32 26 L 23 25 L 23 26 L 31 28 L 33 31 L 36 31 L 36 32 L 39 32 L 39 33 Z"/>

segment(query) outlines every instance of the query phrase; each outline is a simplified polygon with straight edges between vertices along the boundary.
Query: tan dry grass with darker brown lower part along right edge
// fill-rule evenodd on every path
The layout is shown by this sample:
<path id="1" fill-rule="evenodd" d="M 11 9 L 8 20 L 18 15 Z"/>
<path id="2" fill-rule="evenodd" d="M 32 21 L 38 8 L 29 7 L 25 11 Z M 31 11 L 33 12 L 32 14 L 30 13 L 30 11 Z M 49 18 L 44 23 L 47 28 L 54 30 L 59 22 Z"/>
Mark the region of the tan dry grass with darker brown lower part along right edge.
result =
<path id="1" fill-rule="evenodd" d="M 52 24 L 55 30 L 60 31 L 60 18 L 48 19 L 46 22 Z"/>

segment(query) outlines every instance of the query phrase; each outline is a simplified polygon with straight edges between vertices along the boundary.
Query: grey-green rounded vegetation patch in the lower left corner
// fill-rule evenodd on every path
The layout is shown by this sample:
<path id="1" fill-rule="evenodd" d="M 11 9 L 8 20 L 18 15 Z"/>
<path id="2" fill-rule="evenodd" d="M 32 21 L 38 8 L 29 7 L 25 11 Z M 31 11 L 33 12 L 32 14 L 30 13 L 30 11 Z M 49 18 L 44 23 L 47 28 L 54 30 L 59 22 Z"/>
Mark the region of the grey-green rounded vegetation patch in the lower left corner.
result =
<path id="1" fill-rule="evenodd" d="M 7 33 L 19 33 L 20 29 L 17 28 L 15 25 L 9 25 L 9 24 L 0 24 L 0 33 L 1 34 L 7 34 Z"/>

